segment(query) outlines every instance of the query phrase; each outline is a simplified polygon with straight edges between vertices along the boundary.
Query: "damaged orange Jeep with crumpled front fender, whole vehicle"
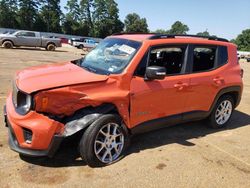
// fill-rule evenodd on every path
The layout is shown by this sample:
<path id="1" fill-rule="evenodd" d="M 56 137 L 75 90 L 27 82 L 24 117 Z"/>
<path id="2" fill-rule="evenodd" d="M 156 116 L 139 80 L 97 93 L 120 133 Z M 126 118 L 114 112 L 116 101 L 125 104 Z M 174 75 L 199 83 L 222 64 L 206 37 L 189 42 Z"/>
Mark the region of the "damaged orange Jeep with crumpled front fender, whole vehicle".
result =
<path id="1" fill-rule="evenodd" d="M 51 157 L 81 131 L 81 157 L 109 165 L 132 134 L 201 119 L 224 127 L 240 102 L 242 74 L 226 39 L 115 34 L 82 59 L 17 73 L 5 107 L 9 145 Z"/>

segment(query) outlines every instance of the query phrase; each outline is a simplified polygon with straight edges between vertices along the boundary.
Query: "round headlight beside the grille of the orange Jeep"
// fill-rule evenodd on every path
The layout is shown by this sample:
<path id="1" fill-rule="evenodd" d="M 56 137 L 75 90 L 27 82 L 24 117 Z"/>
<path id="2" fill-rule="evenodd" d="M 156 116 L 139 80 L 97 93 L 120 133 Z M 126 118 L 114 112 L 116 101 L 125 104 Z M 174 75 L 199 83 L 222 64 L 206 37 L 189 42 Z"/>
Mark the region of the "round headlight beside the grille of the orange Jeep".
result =
<path id="1" fill-rule="evenodd" d="M 30 111 L 32 97 L 20 91 L 15 85 L 13 87 L 12 100 L 17 113 L 25 115 Z"/>

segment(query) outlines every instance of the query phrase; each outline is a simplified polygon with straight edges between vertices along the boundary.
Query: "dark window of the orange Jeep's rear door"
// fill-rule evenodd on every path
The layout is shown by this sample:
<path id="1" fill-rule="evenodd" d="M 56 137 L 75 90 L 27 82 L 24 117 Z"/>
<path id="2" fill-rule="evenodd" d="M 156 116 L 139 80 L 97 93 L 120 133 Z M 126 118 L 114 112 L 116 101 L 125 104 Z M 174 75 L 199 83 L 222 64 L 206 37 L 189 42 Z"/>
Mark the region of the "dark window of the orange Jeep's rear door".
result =
<path id="1" fill-rule="evenodd" d="M 195 46 L 193 51 L 193 72 L 213 69 L 215 66 L 216 46 Z"/>

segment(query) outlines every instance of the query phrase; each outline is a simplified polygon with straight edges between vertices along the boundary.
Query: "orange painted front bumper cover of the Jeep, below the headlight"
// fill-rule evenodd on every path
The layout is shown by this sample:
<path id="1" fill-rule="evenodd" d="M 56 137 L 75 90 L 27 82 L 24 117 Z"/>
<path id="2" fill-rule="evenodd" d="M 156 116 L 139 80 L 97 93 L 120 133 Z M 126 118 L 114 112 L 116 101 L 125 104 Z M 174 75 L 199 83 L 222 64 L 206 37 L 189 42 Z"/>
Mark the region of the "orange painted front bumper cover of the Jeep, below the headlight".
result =
<path id="1" fill-rule="evenodd" d="M 64 125 L 35 111 L 30 111 L 25 116 L 16 113 L 13 106 L 11 93 L 6 102 L 8 121 L 11 123 L 19 145 L 23 148 L 45 150 L 48 148 L 54 134 L 60 134 Z M 32 143 L 27 144 L 23 137 L 22 128 L 32 130 Z"/>

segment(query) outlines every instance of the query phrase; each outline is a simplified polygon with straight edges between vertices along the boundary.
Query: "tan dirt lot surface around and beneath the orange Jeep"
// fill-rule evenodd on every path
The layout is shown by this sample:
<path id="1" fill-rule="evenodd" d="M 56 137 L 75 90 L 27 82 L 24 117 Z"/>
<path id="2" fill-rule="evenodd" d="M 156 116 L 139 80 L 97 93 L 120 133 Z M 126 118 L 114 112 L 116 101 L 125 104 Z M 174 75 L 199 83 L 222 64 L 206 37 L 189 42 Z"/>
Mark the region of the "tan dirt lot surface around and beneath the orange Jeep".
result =
<path id="1" fill-rule="evenodd" d="M 81 50 L 0 48 L 1 187 L 250 187 L 250 63 L 244 93 L 226 129 L 201 122 L 177 125 L 135 137 L 124 159 L 105 168 L 89 168 L 74 140 L 53 159 L 23 158 L 8 147 L 2 106 L 18 69 L 77 59 Z"/>

